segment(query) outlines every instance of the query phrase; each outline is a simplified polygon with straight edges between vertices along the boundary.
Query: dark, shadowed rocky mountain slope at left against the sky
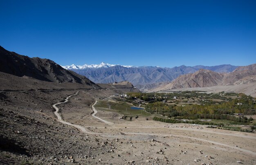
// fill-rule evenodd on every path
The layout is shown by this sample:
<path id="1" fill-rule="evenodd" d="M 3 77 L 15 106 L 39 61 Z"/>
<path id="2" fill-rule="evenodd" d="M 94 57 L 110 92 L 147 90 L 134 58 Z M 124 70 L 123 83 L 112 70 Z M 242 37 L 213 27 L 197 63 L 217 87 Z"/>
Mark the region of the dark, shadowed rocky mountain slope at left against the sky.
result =
<path id="1" fill-rule="evenodd" d="M 38 80 L 55 83 L 80 83 L 94 85 L 85 76 L 63 69 L 54 61 L 42 58 L 29 58 L 0 46 L 0 71 L 15 76 L 29 76 Z"/>

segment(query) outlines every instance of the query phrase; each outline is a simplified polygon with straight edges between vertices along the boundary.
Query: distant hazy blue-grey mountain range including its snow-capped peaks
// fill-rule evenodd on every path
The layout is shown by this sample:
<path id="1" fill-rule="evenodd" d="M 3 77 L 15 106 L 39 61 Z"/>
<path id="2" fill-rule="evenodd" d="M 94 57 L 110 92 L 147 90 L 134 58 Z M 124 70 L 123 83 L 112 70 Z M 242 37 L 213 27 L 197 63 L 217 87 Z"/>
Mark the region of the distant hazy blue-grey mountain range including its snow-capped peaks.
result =
<path id="1" fill-rule="evenodd" d="M 72 70 L 80 75 L 86 76 L 94 83 L 114 83 L 120 81 L 129 81 L 135 87 L 142 89 L 153 88 L 159 83 L 171 82 L 183 74 L 195 73 L 199 69 L 208 69 L 219 73 L 229 73 L 234 71 L 237 66 L 218 65 L 193 67 L 181 65 L 179 67 L 151 67 L 151 66 L 122 66 L 111 65 L 102 62 L 99 65 L 70 65 L 63 66 L 67 70 Z"/>

